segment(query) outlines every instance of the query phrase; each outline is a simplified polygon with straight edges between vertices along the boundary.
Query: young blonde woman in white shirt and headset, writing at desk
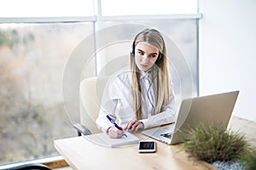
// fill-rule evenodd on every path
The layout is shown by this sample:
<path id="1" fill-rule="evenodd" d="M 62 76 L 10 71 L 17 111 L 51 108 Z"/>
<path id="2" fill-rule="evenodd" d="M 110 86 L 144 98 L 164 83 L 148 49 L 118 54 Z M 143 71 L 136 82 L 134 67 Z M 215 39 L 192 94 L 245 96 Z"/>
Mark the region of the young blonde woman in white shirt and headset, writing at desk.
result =
<path id="1" fill-rule="evenodd" d="M 159 31 L 145 29 L 137 34 L 131 48 L 131 70 L 114 77 L 109 87 L 108 102 L 103 102 L 96 124 L 111 138 L 175 121 L 166 44 Z M 123 130 L 113 126 L 107 115 Z"/>

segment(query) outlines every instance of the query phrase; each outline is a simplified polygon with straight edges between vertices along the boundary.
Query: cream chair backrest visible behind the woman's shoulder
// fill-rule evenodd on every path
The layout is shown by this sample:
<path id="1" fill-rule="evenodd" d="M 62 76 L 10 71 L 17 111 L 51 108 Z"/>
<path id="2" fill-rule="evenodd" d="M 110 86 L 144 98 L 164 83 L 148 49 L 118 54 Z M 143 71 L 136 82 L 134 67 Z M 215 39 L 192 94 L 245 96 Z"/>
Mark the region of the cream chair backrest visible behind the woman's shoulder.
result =
<path id="1" fill-rule="evenodd" d="M 80 123 L 91 133 L 100 133 L 96 126 L 102 94 L 109 77 L 88 77 L 80 83 Z"/>

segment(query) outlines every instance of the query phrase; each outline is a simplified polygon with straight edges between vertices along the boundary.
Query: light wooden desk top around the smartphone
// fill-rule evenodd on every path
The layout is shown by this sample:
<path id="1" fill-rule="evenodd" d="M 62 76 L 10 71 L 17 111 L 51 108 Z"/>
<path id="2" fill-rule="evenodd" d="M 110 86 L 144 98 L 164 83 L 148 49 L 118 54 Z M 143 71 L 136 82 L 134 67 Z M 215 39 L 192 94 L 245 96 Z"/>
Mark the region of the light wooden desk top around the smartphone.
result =
<path id="1" fill-rule="evenodd" d="M 137 133 L 137 136 L 148 139 L 141 133 Z M 73 169 L 217 169 L 207 162 L 189 159 L 178 145 L 157 141 L 156 146 L 155 153 L 140 154 L 137 152 L 137 144 L 108 148 L 94 144 L 83 136 L 55 140 L 55 149 Z"/>

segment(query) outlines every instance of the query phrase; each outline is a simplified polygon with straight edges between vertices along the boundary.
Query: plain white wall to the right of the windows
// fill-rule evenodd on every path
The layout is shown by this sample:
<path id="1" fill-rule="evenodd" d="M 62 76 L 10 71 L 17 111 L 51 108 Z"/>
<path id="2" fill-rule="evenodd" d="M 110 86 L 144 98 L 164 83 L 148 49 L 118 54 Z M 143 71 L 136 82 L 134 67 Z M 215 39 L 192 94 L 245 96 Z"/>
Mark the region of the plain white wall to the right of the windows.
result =
<path id="1" fill-rule="evenodd" d="M 256 1 L 199 0 L 200 95 L 240 90 L 233 114 L 256 121 Z"/>

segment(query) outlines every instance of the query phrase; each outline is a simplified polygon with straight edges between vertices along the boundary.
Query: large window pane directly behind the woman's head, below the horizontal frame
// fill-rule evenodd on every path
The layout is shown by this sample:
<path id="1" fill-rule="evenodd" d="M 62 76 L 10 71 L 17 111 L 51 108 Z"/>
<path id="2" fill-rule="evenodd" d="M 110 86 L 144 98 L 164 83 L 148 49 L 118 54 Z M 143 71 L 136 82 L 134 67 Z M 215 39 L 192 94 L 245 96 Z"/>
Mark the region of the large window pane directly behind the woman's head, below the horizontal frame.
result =
<path id="1" fill-rule="evenodd" d="M 129 52 L 135 35 L 143 28 L 154 27 L 164 35 L 166 40 L 169 66 L 177 99 L 197 95 L 196 20 L 105 21 L 102 22 L 102 27 L 113 27 L 113 29 L 104 32 L 111 38 L 99 37 L 99 41 L 96 41 L 96 48 L 100 48 L 96 55 L 98 74 L 109 76 L 125 66 L 129 67 Z M 109 42 L 109 39 L 112 41 Z M 102 42 L 106 42 L 107 45 L 102 45 Z M 119 63 L 120 60 L 122 64 Z M 183 79 L 183 77 L 186 78 Z"/>

